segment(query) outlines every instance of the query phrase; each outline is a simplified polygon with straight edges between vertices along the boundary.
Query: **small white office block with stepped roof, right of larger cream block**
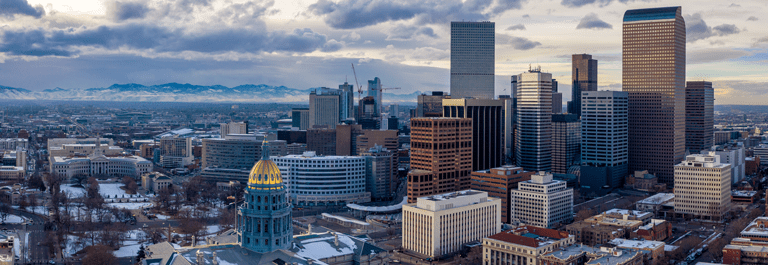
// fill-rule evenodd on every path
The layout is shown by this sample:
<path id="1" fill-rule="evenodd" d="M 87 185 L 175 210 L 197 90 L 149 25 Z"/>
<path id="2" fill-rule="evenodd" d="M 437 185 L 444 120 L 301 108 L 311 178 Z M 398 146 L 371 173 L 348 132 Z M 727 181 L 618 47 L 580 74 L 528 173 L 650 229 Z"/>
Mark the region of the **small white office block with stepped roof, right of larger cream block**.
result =
<path id="1" fill-rule="evenodd" d="M 512 220 L 554 228 L 573 220 L 573 189 L 552 174 L 538 172 L 512 190 Z"/>

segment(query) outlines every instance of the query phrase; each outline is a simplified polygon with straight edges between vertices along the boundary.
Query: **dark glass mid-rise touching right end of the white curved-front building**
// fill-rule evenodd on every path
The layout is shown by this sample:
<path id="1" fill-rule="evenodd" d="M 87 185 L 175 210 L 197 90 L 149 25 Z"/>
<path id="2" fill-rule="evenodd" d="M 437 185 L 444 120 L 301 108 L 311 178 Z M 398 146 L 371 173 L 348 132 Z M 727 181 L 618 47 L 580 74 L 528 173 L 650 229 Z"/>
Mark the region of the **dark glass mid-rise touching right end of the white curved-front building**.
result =
<path id="1" fill-rule="evenodd" d="M 377 145 L 359 155 L 365 158 L 365 190 L 371 193 L 371 199 L 394 199 L 397 189 L 397 150 Z"/>

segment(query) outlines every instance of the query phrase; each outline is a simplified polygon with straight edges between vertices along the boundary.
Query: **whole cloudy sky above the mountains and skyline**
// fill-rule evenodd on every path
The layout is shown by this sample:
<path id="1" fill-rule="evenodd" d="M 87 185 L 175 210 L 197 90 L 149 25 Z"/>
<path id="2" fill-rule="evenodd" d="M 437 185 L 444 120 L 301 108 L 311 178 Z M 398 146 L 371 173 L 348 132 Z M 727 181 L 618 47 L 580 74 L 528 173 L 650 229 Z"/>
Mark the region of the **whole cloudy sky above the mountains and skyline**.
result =
<path id="1" fill-rule="evenodd" d="M 768 104 L 768 1 L 0 0 L 0 85 L 337 86 L 378 76 L 396 93 L 448 90 L 450 21 L 496 22 L 496 91 L 540 65 L 570 99 L 574 53 L 621 89 L 621 21 L 682 6 L 688 80 L 717 104 Z"/>

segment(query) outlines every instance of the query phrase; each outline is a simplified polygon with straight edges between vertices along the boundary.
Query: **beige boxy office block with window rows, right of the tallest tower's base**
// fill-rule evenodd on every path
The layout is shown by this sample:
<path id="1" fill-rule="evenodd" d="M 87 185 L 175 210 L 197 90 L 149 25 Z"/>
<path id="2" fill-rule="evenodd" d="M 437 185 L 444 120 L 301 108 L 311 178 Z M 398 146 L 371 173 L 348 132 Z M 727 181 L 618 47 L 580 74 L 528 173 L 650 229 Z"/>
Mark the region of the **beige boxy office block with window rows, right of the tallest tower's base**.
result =
<path id="1" fill-rule="evenodd" d="M 720 221 L 731 209 L 731 165 L 715 153 L 689 155 L 675 166 L 675 214 Z"/>

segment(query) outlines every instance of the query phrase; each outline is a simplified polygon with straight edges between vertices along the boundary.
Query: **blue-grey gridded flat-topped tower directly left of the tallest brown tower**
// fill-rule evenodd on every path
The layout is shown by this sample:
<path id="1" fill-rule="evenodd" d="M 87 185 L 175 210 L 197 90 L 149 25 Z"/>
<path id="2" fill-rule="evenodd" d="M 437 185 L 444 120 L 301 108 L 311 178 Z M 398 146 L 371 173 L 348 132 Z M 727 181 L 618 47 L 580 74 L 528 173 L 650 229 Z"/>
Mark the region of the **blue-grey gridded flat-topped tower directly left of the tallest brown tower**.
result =
<path id="1" fill-rule="evenodd" d="M 581 186 L 604 195 L 629 174 L 628 94 L 581 93 Z"/>

